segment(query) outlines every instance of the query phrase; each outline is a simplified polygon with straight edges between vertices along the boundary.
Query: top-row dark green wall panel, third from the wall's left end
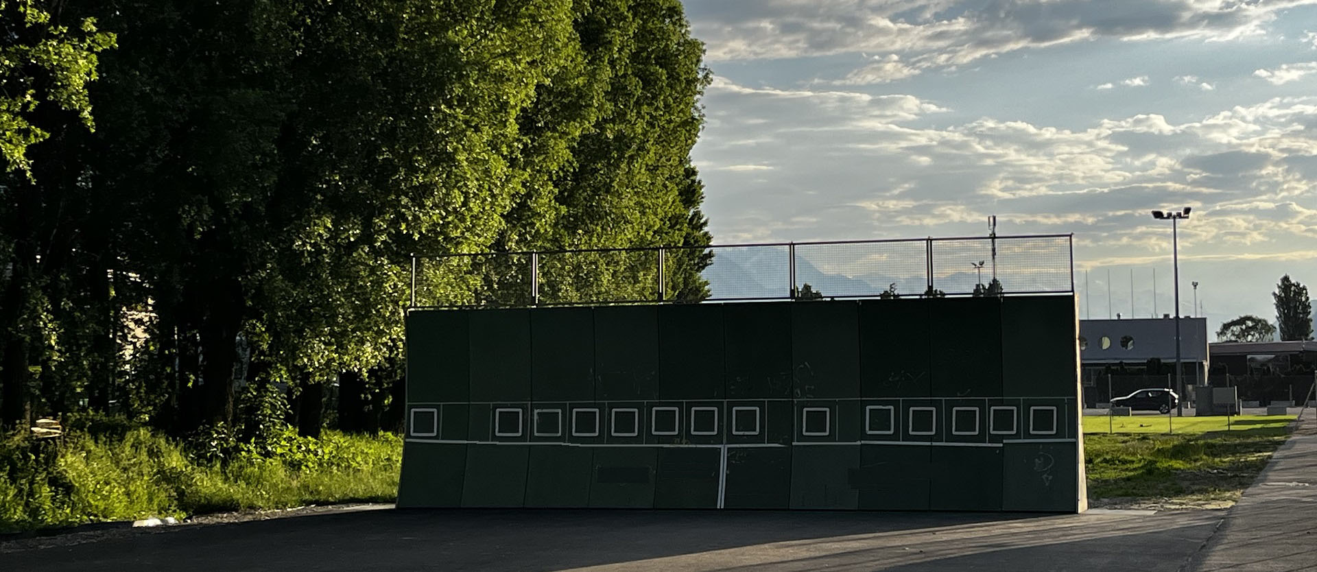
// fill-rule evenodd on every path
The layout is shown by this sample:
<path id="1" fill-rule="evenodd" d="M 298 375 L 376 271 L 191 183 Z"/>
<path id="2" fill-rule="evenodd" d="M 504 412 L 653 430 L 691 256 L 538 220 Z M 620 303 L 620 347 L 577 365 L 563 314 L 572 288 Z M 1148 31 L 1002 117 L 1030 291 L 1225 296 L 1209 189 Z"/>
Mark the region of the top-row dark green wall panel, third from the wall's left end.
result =
<path id="1" fill-rule="evenodd" d="M 565 307 L 531 312 L 531 362 L 532 399 L 594 399 L 594 311 Z"/>

